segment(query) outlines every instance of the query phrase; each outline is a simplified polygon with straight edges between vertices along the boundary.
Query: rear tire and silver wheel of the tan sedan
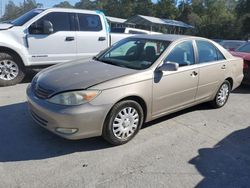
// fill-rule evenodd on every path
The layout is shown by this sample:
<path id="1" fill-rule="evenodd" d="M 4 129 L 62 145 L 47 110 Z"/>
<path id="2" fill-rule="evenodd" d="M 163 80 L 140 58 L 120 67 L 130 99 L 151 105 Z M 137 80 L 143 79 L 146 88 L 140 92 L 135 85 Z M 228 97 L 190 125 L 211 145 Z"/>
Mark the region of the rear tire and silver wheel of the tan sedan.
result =
<path id="1" fill-rule="evenodd" d="M 214 108 L 221 108 L 221 107 L 223 107 L 227 103 L 227 101 L 228 101 L 230 92 L 231 92 L 231 84 L 230 84 L 229 81 L 225 80 L 221 84 L 219 90 L 217 91 L 214 100 L 211 101 L 211 105 Z"/>

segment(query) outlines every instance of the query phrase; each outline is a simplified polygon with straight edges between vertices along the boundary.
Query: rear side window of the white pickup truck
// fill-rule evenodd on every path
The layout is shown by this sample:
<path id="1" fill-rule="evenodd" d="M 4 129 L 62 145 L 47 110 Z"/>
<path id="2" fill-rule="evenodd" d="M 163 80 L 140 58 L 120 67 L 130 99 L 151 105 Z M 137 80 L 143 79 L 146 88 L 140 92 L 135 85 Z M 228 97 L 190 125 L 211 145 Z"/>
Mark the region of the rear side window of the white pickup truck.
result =
<path id="1" fill-rule="evenodd" d="M 94 14 L 78 14 L 80 31 L 101 31 L 100 16 Z"/>

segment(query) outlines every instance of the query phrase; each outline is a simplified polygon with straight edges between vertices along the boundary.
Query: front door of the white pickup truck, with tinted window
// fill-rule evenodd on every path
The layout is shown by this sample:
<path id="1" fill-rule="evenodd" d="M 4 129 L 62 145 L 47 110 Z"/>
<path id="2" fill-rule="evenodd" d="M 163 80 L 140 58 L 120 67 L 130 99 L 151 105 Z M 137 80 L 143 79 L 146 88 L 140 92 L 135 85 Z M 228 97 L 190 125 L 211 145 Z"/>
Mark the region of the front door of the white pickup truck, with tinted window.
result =
<path id="1" fill-rule="evenodd" d="M 28 28 L 27 43 L 32 64 L 45 65 L 76 59 L 75 14 L 51 12 Z M 50 33 L 45 25 L 50 24 Z"/>

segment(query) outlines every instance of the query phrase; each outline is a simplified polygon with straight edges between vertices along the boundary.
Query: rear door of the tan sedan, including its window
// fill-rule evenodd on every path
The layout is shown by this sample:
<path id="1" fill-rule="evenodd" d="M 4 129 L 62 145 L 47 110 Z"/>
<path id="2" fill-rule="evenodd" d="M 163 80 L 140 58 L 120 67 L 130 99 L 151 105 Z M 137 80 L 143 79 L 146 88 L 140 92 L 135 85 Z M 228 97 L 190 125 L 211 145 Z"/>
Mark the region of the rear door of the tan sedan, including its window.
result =
<path id="1" fill-rule="evenodd" d="M 209 41 L 196 40 L 199 66 L 199 86 L 196 100 L 210 98 L 224 81 L 227 61 L 223 54 Z"/>

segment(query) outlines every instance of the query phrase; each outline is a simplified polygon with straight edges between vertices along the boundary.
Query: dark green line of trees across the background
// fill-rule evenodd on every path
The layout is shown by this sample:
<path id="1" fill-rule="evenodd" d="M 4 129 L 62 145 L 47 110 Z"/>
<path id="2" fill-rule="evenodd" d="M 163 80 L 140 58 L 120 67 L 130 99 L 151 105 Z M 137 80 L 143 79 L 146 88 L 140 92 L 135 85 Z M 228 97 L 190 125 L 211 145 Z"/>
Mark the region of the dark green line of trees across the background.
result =
<path id="1" fill-rule="evenodd" d="M 43 7 L 35 0 L 15 4 L 9 1 L 1 20 L 12 20 L 21 14 Z M 186 34 L 213 39 L 249 39 L 250 0 L 79 0 L 72 5 L 68 1 L 55 7 L 101 10 L 108 16 L 130 18 L 147 15 L 180 20 L 195 29 Z"/>

